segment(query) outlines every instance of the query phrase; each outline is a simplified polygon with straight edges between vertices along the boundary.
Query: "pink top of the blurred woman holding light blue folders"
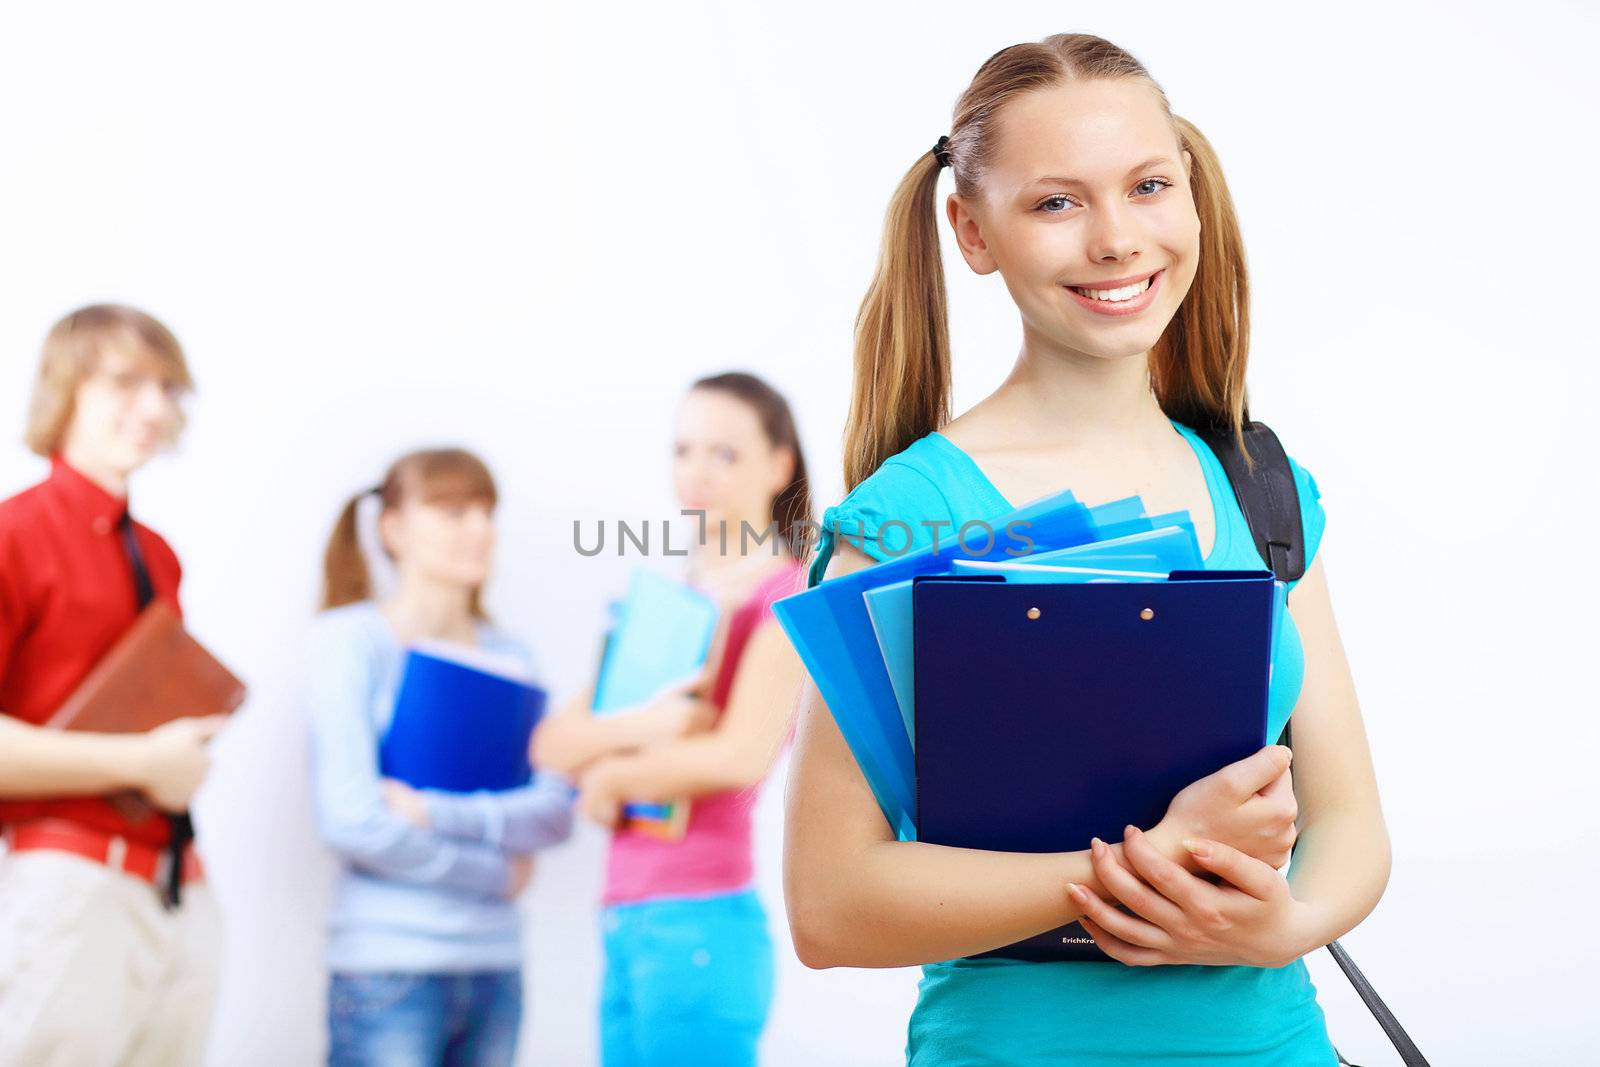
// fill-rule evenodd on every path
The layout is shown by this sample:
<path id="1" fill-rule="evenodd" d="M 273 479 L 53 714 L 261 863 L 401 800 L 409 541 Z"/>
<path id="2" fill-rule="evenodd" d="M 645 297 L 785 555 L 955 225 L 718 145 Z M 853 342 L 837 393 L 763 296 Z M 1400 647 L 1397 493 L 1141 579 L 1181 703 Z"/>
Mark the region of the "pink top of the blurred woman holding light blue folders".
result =
<path id="1" fill-rule="evenodd" d="M 773 617 L 774 600 L 800 590 L 800 579 L 802 568 L 790 560 L 733 609 L 710 691 L 718 715 L 733 689 L 746 641 L 757 625 Z M 749 886 L 755 877 L 750 809 L 758 792 L 760 782 L 736 792 L 696 797 L 690 801 L 688 827 L 678 841 L 626 829 L 613 833 L 603 902 L 709 896 Z"/>

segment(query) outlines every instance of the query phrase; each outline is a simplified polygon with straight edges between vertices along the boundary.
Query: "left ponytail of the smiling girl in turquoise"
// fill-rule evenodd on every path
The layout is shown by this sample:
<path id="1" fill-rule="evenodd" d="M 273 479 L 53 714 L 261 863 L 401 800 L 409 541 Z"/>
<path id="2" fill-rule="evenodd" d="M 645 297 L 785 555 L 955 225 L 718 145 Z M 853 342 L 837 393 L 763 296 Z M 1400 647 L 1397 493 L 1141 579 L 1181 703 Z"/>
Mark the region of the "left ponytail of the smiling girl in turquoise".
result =
<path id="1" fill-rule="evenodd" d="M 856 314 L 854 395 L 845 422 L 845 488 L 950 418 L 950 326 L 934 195 L 925 152 L 883 219 L 878 269 Z"/>

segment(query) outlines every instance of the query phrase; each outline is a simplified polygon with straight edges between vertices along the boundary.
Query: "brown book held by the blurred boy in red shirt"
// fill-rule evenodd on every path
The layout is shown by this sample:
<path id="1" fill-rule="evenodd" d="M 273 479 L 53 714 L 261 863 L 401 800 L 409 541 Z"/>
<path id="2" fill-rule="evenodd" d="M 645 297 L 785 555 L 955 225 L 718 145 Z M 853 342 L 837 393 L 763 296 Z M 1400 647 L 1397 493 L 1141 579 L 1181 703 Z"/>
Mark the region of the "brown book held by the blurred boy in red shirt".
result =
<path id="1" fill-rule="evenodd" d="M 46 725 L 136 734 L 174 718 L 229 713 L 243 701 L 245 683 L 189 637 L 170 605 L 152 600 Z"/>

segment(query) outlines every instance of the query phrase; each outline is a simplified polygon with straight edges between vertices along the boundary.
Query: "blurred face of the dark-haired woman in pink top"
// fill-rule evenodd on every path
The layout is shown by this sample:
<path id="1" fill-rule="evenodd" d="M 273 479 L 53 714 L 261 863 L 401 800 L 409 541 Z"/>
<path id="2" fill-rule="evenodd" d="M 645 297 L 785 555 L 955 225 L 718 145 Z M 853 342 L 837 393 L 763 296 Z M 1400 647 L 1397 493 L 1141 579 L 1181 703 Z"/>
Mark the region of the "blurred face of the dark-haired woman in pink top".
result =
<path id="1" fill-rule="evenodd" d="M 790 451 L 773 448 L 750 405 L 718 389 L 691 389 L 683 398 L 672 440 L 672 490 L 685 510 L 706 510 L 709 544 L 717 544 L 718 522 L 730 523 L 730 545 L 739 542 L 741 520 L 766 522 L 792 470 Z"/>

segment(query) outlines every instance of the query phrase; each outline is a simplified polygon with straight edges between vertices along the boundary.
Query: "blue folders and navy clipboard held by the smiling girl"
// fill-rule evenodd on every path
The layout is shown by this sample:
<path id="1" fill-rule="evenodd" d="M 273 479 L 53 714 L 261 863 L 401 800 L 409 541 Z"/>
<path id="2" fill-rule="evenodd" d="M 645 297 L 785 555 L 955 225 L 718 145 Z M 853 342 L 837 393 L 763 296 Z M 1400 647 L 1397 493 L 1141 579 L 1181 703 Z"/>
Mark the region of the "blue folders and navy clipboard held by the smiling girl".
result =
<path id="1" fill-rule="evenodd" d="M 1138 498 L 989 526 L 774 605 L 901 840 L 1086 849 L 1266 744 L 1270 571 Z M 1077 923 L 984 955 L 1109 958 Z"/>

